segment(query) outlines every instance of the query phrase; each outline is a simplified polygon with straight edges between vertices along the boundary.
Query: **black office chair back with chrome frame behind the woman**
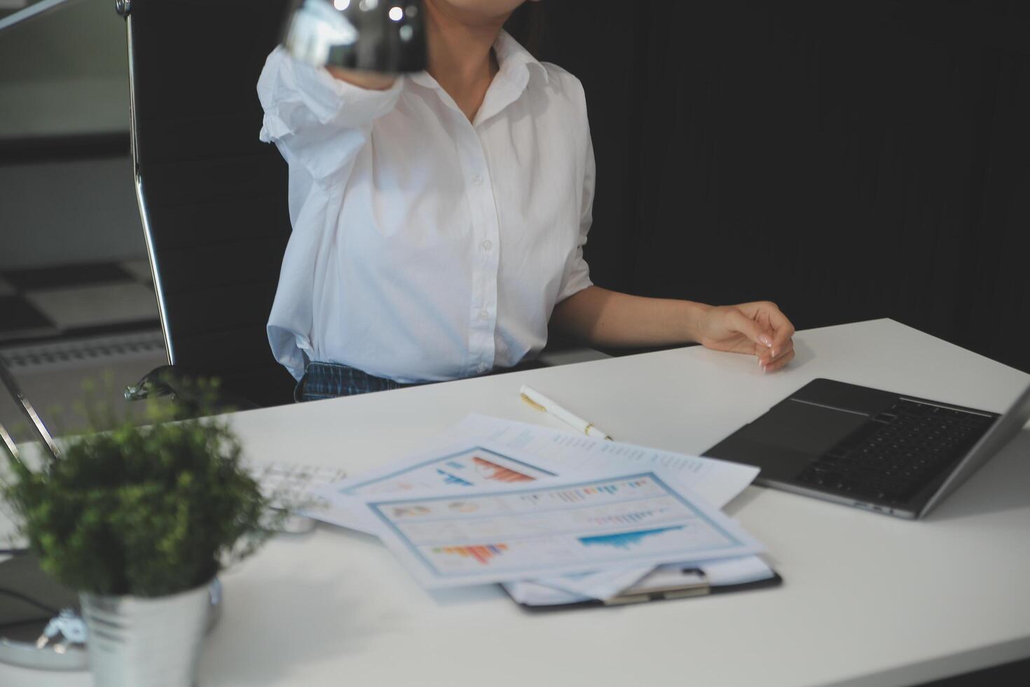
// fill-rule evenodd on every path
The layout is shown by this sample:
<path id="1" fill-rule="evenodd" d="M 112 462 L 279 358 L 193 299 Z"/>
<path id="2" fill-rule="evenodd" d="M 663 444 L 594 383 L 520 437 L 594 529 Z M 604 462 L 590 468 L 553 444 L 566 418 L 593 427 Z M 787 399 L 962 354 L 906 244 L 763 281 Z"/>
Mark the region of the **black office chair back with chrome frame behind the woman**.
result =
<path id="1" fill-rule="evenodd" d="M 136 197 L 170 367 L 127 398 L 220 380 L 224 405 L 289 403 L 265 325 L 290 225 L 287 169 L 258 140 L 255 84 L 285 0 L 117 0 Z M 182 399 L 190 401 L 188 399 Z"/>

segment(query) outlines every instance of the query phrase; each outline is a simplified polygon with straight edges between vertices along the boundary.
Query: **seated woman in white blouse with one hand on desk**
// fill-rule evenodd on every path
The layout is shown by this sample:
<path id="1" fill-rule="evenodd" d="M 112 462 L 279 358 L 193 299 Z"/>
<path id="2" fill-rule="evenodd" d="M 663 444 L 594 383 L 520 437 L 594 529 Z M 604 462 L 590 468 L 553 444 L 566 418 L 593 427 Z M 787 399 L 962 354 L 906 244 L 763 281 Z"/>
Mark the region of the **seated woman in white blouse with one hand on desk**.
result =
<path id="1" fill-rule="evenodd" d="M 549 322 L 598 346 L 699 342 L 768 372 L 793 357 L 771 303 L 590 282 L 583 89 L 502 30 L 521 2 L 425 0 L 417 74 L 269 57 L 261 138 L 289 165 L 294 233 L 268 331 L 300 400 L 510 368 L 544 347 Z"/>

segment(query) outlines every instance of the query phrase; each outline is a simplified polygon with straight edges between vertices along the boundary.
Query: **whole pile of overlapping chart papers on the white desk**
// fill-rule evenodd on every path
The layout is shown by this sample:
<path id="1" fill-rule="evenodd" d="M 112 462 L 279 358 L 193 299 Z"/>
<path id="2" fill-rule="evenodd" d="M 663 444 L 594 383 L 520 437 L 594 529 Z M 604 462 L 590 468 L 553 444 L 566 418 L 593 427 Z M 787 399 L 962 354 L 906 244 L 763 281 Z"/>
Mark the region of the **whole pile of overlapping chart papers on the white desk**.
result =
<path id="1" fill-rule="evenodd" d="M 473 415 L 432 451 L 319 489 L 310 515 L 378 536 L 426 587 L 571 604 L 685 568 L 713 585 L 772 576 L 718 510 L 757 472 Z"/>

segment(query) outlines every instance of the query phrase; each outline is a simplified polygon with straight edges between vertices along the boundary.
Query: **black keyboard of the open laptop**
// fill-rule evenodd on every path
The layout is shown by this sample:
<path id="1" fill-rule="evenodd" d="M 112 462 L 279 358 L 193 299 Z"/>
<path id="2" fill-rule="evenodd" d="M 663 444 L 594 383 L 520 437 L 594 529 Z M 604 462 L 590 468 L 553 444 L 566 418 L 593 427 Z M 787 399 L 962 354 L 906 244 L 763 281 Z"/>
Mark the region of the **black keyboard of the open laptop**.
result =
<path id="1" fill-rule="evenodd" d="M 993 417 L 899 400 L 797 478 L 856 499 L 902 503 L 961 457 Z"/>

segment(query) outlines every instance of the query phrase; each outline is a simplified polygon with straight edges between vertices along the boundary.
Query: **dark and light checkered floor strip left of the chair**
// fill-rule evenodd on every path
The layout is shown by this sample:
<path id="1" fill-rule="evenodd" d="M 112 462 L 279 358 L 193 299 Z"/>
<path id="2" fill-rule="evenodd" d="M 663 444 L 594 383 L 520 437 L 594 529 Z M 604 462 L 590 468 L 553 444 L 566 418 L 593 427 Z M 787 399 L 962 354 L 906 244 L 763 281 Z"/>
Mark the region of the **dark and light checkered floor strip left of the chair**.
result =
<path id="1" fill-rule="evenodd" d="M 158 299 L 145 261 L 0 271 L 0 342 L 152 331 Z"/>

